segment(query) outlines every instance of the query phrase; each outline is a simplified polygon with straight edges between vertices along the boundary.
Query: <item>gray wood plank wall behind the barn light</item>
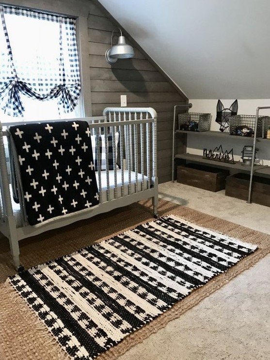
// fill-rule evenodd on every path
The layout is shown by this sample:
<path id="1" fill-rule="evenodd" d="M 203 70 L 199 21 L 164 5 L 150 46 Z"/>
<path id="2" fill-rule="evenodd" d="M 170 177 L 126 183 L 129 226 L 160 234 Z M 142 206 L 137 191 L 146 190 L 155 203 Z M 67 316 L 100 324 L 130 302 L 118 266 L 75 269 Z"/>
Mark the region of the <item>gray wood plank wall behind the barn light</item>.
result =
<path id="1" fill-rule="evenodd" d="M 118 23 L 110 14 L 97 1 L 91 0 L 88 40 L 92 115 L 101 115 L 107 106 L 119 107 L 120 95 L 127 95 L 127 106 L 153 107 L 158 113 L 159 183 L 169 181 L 172 172 L 174 106 L 185 104 L 188 99 L 151 59 L 147 59 L 147 54 L 124 29 L 123 34 L 134 47 L 134 58 L 119 59 L 112 65 L 106 62 L 105 51 L 111 47 L 111 32 L 117 27 Z"/>

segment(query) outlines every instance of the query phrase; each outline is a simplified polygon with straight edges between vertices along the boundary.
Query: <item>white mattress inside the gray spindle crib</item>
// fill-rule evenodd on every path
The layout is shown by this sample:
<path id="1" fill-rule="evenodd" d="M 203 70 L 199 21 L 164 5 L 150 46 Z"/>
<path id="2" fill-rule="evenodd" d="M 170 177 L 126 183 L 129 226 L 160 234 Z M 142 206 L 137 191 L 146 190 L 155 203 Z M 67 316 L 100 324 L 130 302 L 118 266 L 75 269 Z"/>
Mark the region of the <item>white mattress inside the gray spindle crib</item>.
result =
<path id="1" fill-rule="evenodd" d="M 116 193 L 117 193 L 117 197 L 121 197 L 122 195 L 122 171 L 121 169 L 116 170 L 117 173 L 117 187 L 116 187 Z M 96 177 L 96 182 L 97 182 L 97 187 L 99 190 L 99 183 L 98 183 L 98 173 L 96 172 L 95 174 Z M 131 171 L 130 172 L 130 178 L 131 178 L 131 182 L 130 182 L 130 194 L 134 194 L 135 193 L 135 183 L 136 183 L 136 174 L 135 172 Z M 143 179 L 143 181 L 142 181 Z M 124 183 L 123 183 L 123 191 L 124 191 L 124 196 L 127 196 L 128 193 L 128 180 L 129 180 L 129 173 L 128 170 L 124 170 Z M 102 201 L 110 201 L 111 199 L 114 198 L 114 171 L 110 170 L 109 171 L 109 198 L 107 199 L 107 175 L 106 175 L 106 171 L 101 171 L 101 190 L 99 190 L 99 196 L 101 196 Z M 138 191 L 142 191 L 142 190 L 146 190 L 147 189 L 147 177 L 144 176 L 142 177 L 141 174 L 138 174 L 138 181 L 137 181 L 137 186 L 138 186 Z M 10 191 L 12 194 L 12 190 L 10 187 Z M 22 213 L 20 210 L 20 206 L 19 204 L 17 204 L 13 198 L 12 198 L 12 208 L 13 208 L 13 213 L 16 219 L 16 226 L 17 228 L 22 227 L 23 223 L 22 223 Z"/>

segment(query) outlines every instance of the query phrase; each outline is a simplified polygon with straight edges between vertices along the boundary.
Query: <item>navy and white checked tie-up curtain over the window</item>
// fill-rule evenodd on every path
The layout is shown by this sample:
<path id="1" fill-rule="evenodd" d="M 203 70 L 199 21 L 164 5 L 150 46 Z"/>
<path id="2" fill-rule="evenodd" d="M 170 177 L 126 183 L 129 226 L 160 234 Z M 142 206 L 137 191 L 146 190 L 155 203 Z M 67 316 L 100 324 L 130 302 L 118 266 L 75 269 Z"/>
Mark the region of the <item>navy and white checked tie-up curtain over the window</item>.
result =
<path id="1" fill-rule="evenodd" d="M 0 5 L 0 106 L 22 116 L 21 94 L 57 98 L 65 113 L 80 94 L 75 19 Z M 12 26 L 16 21 L 16 27 Z"/>

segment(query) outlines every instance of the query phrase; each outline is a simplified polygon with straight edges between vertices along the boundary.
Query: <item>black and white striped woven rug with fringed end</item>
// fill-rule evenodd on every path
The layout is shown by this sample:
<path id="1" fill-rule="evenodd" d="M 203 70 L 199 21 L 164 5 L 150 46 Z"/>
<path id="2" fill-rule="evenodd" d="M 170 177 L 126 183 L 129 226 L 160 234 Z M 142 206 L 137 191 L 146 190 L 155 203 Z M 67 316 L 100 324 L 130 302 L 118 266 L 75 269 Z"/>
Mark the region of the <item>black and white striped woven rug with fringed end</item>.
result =
<path id="1" fill-rule="evenodd" d="M 170 215 L 9 281 L 71 359 L 88 360 L 255 249 Z"/>

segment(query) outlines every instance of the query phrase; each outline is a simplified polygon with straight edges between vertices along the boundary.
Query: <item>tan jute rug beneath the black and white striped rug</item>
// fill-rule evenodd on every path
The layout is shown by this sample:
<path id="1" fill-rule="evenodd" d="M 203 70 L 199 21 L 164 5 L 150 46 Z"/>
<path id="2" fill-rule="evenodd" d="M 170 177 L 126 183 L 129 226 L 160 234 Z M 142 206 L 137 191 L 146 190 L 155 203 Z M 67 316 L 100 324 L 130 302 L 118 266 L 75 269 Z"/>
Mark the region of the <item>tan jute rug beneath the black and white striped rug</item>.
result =
<path id="1" fill-rule="evenodd" d="M 132 334 L 128 335 L 120 344 L 113 346 L 111 349 L 100 355 L 98 357 L 98 359 L 100 360 L 116 359 L 119 355 L 124 353 L 128 348 L 142 341 L 145 337 L 148 337 L 151 333 L 157 331 L 159 328 L 164 327 L 170 320 L 174 319 L 175 317 L 178 317 L 181 313 L 196 305 L 204 297 L 217 290 L 224 283 L 228 282 L 231 278 L 235 277 L 241 271 L 252 266 L 255 262 L 257 262 L 267 253 L 269 253 L 270 250 L 269 248 L 270 246 L 268 245 L 269 236 L 266 234 L 262 234 L 254 230 L 246 229 L 238 225 L 226 221 L 222 221 L 220 219 L 211 217 L 209 215 L 198 213 L 191 209 L 180 207 L 175 204 L 168 203 L 162 200 L 160 201 L 159 204 L 159 213 L 162 216 L 167 215 L 169 213 L 175 214 L 177 216 L 180 216 L 181 218 L 191 221 L 193 224 L 196 224 L 197 226 L 201 226 L 207 229 L 213 229 L 220 233 L 226 234 L 227 237 L 225 237 L 225 239 L 231 237 L 231 238 L 240 239 L 241 241 L 244 241 L 249 244 L 256 244 L 258 245 L 258 249 L 254 253 L 250 254 L 248 257 L 242 259 L 238 264 L 229 268 L 226 273 L 222 273 L 218 277 L 212 278 L 202 287 L 199 287 L 198 289 L 192 291 L 192 293 L 189 296 L 186 296 L 181 301 L 176 302 L 171 309 L 159 315 L 155 320 L 143 326 L 140 330 L 137 330 Z M 139 223 L 152 220 L 151 215 L 152 213 L 151 210 L 149 209 L 149 203 L 141 202 L 139 204 L 134 204 L 132 206 L 129 206 L 125 209 L 117 210 L 108 214 L 103 214 L 102 216 L 97 216 L 96 218 L 88 221 L 83 221 L 77 224 L 76 226 L 72 225 L 66 227 L 64 229 L 61 229 L 61 231 L 53 230 L 47 233 L 46 235 L 43 234 L 39 236 L 38 238 L 24 240 L 21 243 L 21 252 L 22 252 L 21 260 L 26 267 L 30 267 L 42 262 L 47 262 L 48 260 L 51 260 L 53 258 L 58 258 L 60 256 L 63 256 L 64 254 L 73 252 L 78 248 L 91 245 L 95 242 L 98 242 L 99 240 L 104 240 L 104 238 L 111 238 L 111 235 L 122 233 L 123 230 L 133 228 Z M 169 225 L 172 226 L 172 224 Z M 143 229 L 142 227 L 137 228 L 137 231 L 141 231 L 142 229 Z M 147 231 L 148 230 L 149 229 L 147 229 Z M 179 231 L 182 232 L 184 231 L 186 233 L 187 232 L 186 230 L 187 229 L 185 230 L 181 229 Z M 152 234 L 154 232 L 155 235 L 157 236 L 156 240 L 160 241 L 158 234 L 158 232 L 161 231 L 160 228 L 158 230 L 155 229 L 155 231 L 153 231 L 152 229 L 151 231 Z M 170 229 L 168 231 L 170 231 Z M 202 232 L 204 233 L 204 230 L 202 230 Z M 137 233 L 136 236 L 138 237 L 140 236 L 140 234 Z M 147 233 L 147 236 L 149 236 L 149 233 Z M 169 240 L 172 241 L 170 232 L 169 234 L 167 234 L 167 236 L 169 237 Z M 192 233 L 189 236 L 191 236 L 192 239 L 193 236 Z M 125 241 L 125 239 L 121 237 L 119 237 L 119 239 L 121 239 L 121 241 Z M 123 244 L 121 244 L 121 241 L 119 240 L 118 242 L 118 246 L 120 247 L 123 246 Z M 2 276 L 2 281 L 4 281 L 6 276 L 13 274 L 13 269 L 9 263 L 10 257 L 8 255 L 8 244 L 1 241 L 1 245 L 2 246 L 0 249 L 0 273 Z M 109 245 L 111 246 L 111 244 Z M 148 246 L 148 245 L 150 244 L 147 243 L 146 245 L 144 244 L 143 246 Z M 102 246 L 102 244 L 95 245 L 94 247 L 96 246 Z M 229 265 L 228 261 L 232 261 L 232 256 L 231 256 L 232 252 L 231 249 L 229 250 L 227 248 L 227 246 L 228 244 L 226 244 L 225 262 L 227 265 Z M 238 246 L 241 247 L 242 244 L 240 245 L 238 244 L 237 248 Z M 121 251 L 122 250 L 123 249 L 121 249 Z M 180 251 L 179 249 L 176 250 Z M 192 249 L 190 250 L 194 251 L 194 248 L 192 247 Z M 215 250 L 217 250 L 217 248 Z M 239 250 L 240 249 L 238 248 L 238 251 Z M 253 250 L 254 247 L 251 246 L 248 252 L 251 252 Z M 106 251 L 108 251 L 108 249 Z M 151 252 L 152 257 L 156 256 L 155 255 L 156 251 L 157 249 L 154 249 L 154 251 Z M 214 256 L 211 255 L 212 261 L 217 260 L 217 253 L 215 251 L 214 253 L 215 253 Z M 245 255 L 242 254 L 240 258 L 242 256 Z M 134 261 L 137 260 L 138 259 L 134 259 Z M 188 259 L 186 260 L 188 261 Z M 198 263 L 196 265 L 198 266 Z M 189 284 L 190 282 L 192 283 L 193 281 L 192 286 L 189 285 L 185 287 L 186 284 L 180 283 L 178 281 L 179 283 L 175 288 L 176 285 L 174 283 L 174 285 L 172 285 L 174 288 L 174 292 L 178 291 L 178 296 L 179 293 L 184 295 L 183 294 L 184 288 L 186 288 L 187 289 L 186 291 L 189 293 L 192 288 L 200 286 L 201 283 L 204 283 L 206 280 L 205 278 L 206 272 L 210 272 L 211 266 L 209 267 L 209 265 L 210 264 L 208 264 L 206 266 L 207 268 L 204 269 L 204 275 L 200 274 L 200 272 L 197 271 L 198 268 L 196 269 L 196 271 L 193 270 L 193 272 L 189 273 L 189 277 L 186 278 L 185 281 Z M 165 270 L 170 273 L 168 267 Z M 223 268 L 220 269 L 220 271 L 224 271 L 224 270 L 225 269 Z M 157 271 L 157 269 L 155 269 L 155 271 Z M 162 272 L 162 274 L 165 274 L 166 276 L 166 271 L 165 273 L 162 270 L 160 271 Z M 112 275 L 113 274 L 111 273 L 110 276 Z M 173 277 L 174 276 L 175 275 L 173 275 Z M 209 278 L 211 278 L 211 276 L 209 276 Z M 181 288 L 182 293 L 179 291 L 180 289 L 179 287 Z M 172 296 L 174 292 L 170 293 L 171 294 L 170 296 Z M 181 298 L 181 296 L 179 297 Z M 157 300 L 154 300 L 153 298 L 151 301 L 157 303 Z M 158 307 L 160 311 L 164 310 L 166 306 L 167 308 L 171 306 L 168 303 L 166 303 L 166 301 L 162 303 L 163 304 L 162 305 L 160 301 L 164 302 L 164 298 L 161 300 L 159 299 L 158 301 Z M 0 345 L 1 345 L 0 358 L 1 359 L 50 359 L 50 360 L 69 359 L 66 353 L 62 350 L 61 346 L 56 342 L 56 340 L 54 340 L 54 338 L 51 335 L 49 335 L 48 328 L 45 327 L 42 324 L 42 322 L 38 320 L 38 317 L 34 314 L 33 311 L 29 310 L 29 308 L 26 306 L 25 301 L 19 295 L 17 295 L 17 293 L 14 291 L 14 289 L 9 283 L 2 283 L 1 285 L 0 303 L 1 303 L 1 307 L 0 307 Z M 152 318 L 154 318 L 157 314 L 153 314 L 154 308 L 151 309 L 151 311 L 152 311 L 151 316 Z M 140 316 L 144 316 L 142 312 L 139 311 L 138 313 L 141 314 Z M 117 319 L 117 320 L 123 321 L 123 319 L 120 320 Z M 123 332 L 125 332 L 127 330 L 127 324 L 124 324 L 122 327 L 124 329 Z M 134 328 L 137 327 L 134 326 Z M 112 342 L 110 342 L 111 340 Z M 115 340 L 110 339 L 109 343 L 113 344 L 113 341 Z"/>

